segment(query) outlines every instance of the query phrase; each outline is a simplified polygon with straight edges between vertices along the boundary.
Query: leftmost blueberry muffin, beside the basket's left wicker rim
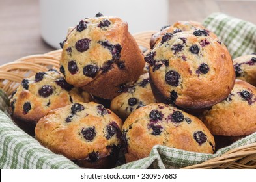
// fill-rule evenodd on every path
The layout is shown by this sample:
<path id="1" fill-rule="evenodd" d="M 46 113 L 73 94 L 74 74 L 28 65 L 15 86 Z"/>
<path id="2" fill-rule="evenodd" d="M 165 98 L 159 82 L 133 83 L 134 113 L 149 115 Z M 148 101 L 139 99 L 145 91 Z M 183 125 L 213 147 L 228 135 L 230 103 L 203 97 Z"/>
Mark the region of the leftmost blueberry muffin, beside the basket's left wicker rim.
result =
<path id="1" fill-rule="evenodd" d="M 57 70 L 50 70 L 23 79 L 11 96 L 10 112 L 16 123 L 33 135 L 36 122 L 50 110 L 89 100 L 88 93 L 66 83 Z"/>

